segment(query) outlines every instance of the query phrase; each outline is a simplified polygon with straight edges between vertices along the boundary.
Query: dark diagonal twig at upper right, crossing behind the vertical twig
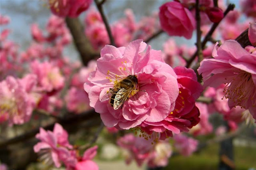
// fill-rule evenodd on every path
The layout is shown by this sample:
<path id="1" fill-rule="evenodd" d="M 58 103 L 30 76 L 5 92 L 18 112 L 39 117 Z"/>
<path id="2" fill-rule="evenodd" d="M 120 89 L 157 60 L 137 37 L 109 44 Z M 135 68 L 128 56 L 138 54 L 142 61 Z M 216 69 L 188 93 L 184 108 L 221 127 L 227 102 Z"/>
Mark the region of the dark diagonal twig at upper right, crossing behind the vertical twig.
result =
<path id="1" fill-rule="evenodd" d="M 234 10 L 235 5 L 234 4 L 229 4 L 228 8 L 226 9 L 226 11 L 224 12 L 224 17 L 228 14 L 228 12 Z M 224 18 L 223 17 L 223 18 Z M 223 20 L 222 18 L 222 20 Z M 220 20 L 220 22 L 222 21 Z M 220 22 L 214 23 L 211 27 L 211 29 L 209 30 L 209 32 L 206 34 L 206 36 L 204 37 L 204 40 L 202 42 L 202 49 L 204 49 L 206 42 L 208 42 L 208 40 L 210 40 L 210 37 L 212 36 L 213 32 L 215 31 L 215 29 L 217 28 L 217 26 L 220 24 Z M 194 59 L 197 56 L 198 51 L 196 50 L 196 52 L 194 53 L 194 55 L 188 60 L 187 64 L 186 64 L 186 68 L 189 68 L 190 65 L 192 64 L 192 62 L 194 61 Z"/>

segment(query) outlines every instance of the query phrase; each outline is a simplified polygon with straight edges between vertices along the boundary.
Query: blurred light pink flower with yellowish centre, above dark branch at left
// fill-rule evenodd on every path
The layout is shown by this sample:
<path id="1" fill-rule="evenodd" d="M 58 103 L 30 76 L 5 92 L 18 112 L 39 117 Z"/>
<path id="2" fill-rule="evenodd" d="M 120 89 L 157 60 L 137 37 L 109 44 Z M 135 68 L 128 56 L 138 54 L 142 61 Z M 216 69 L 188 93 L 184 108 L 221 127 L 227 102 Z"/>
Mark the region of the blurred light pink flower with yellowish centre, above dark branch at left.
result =
<path id="1" fill-rule="evenodd" d="M 38 76 L 39 86 L 46 92 L 60 90 L 64 86 L 64 77 L 60 69 L 50 62 L 39 63 L 37 60 L 30 64 L 32 73 Z"/>

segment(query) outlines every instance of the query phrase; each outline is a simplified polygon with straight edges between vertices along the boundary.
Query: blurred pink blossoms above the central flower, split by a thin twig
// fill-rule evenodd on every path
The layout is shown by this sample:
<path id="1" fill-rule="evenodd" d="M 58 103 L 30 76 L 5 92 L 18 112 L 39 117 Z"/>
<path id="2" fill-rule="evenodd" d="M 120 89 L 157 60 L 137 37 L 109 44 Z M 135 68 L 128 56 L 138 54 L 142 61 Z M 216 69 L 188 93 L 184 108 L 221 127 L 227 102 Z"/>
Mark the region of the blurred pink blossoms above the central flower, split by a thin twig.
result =
<path id="1" fill-rule="evenodd" d="M 120 18 L 120 20 L 110 25 L 117 47 L 126 46 L 137 38 L 146 39 L 160 29 L 157 14 L 144 17 L 136 23 L 131 9 L 126 9 L 124 13 L 125 18 Z M 86 25 L 84 32 L 95 50 L 110 44 L 108 32 L 98 11 L 94 8 L 89 10 L 84 18 L 84 23 Z"/>

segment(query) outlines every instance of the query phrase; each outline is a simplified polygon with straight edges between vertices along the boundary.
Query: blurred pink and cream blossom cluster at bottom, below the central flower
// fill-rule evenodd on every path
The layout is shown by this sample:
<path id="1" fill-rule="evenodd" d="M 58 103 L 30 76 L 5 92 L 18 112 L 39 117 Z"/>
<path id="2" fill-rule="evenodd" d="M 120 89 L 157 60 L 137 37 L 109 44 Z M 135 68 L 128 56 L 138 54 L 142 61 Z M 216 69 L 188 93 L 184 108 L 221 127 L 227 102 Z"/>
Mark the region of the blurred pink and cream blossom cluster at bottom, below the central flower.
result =
<path id="1" fill-rule="evenodd" d="M 161 140 L 154 143 L 134 134 L 126 134 L 117 140 L 118 146 L 124 149 L 126 164 L 135 160 L 138 166 L 146 163 L 148 167 L 162 167 L 168 164 L 172 155 L 172 148 L 168 141 Z"/>

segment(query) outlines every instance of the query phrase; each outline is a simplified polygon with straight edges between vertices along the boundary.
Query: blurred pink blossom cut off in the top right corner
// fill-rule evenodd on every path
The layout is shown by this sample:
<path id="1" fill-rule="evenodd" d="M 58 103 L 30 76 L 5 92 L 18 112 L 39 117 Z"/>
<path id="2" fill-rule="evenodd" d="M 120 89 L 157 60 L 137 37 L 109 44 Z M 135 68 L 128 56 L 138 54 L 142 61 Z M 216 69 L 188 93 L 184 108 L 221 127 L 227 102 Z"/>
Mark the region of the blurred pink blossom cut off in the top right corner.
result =
<path id="1" fill-rule="evenodd" d="M 256 17 L 255 0 L 240 0 L 240 5 L 242 7 L 242 12 L 244 12 L 246 16 Z"/>

